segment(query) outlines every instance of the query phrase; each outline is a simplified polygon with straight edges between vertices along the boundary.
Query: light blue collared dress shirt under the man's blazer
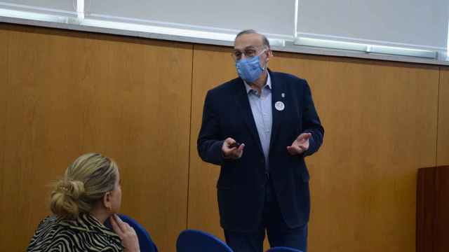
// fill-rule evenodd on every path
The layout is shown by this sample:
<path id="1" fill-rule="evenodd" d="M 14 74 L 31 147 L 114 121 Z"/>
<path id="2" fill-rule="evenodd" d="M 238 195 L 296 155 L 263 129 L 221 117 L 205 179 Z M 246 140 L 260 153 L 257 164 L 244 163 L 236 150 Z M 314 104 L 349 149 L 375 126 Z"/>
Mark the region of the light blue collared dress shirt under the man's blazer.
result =
<path id="1" fill-rule="evenodd" d="M 272 80 L 267 73 L 267 83 L 262 87 L 262 92 L 259 94 L 257 90 L 251 88 L 245 82 L 246 92 L 248 93 L 248 100 L 250 102 L 251 111 L 257 133 L 259 134 L 260 144 L 265 157 L 265 171 L 269 170 L 269 144 L 272 137 Z"/>

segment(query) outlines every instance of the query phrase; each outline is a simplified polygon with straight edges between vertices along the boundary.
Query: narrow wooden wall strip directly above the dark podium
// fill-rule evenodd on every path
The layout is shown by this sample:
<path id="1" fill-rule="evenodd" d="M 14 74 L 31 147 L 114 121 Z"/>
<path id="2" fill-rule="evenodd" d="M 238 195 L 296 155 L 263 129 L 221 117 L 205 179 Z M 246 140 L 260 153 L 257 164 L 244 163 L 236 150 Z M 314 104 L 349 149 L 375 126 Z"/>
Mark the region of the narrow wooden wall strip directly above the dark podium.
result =
<path id="1" fill-rule="evenodd" d="M 449 165 L 449 68 L 440 69 L 437 165 Z"/>

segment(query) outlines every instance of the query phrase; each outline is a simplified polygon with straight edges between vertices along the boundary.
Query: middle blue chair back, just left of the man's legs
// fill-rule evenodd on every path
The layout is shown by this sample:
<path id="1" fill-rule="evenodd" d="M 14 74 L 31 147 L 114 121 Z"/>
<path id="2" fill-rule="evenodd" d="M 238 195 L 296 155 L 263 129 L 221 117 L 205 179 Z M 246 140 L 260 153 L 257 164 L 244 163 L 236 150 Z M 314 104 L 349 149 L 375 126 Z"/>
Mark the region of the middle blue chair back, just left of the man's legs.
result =
<path id="1" fill-rule="evenodd" d="M 222 240 L 199 230 L 184 230 L 177 237 L 177 252 L 232 252 Z"/>

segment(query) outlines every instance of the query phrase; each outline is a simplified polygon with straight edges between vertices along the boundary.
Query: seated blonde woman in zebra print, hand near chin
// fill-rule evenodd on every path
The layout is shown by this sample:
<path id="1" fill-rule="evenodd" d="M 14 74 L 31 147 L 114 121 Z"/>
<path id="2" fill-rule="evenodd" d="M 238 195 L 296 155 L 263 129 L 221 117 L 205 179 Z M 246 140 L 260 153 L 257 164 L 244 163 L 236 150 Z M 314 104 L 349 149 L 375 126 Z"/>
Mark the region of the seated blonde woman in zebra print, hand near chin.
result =
<path id="1" fill-rule="evenodd" d="M 55 183 L 53 215 L 41 221 L 27 251 L 140 251 L 135 230 L 116 215 L 120 204 L 116 163 L 98 153 L 81 155 Z M 103 225 L 107 218 L 114 232 Z"/>

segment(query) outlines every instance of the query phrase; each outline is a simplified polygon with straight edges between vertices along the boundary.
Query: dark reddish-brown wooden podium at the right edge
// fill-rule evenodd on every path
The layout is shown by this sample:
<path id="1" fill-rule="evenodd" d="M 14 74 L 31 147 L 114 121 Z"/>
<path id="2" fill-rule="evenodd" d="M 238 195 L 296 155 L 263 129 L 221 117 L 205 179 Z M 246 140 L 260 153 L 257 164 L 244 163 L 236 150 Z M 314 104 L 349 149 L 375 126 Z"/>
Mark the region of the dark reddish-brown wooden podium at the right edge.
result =
<path id="1" fill-rule="evenodd" d="M 416 252 L 449 251 L 449 166 L 418 170 Z"/>

